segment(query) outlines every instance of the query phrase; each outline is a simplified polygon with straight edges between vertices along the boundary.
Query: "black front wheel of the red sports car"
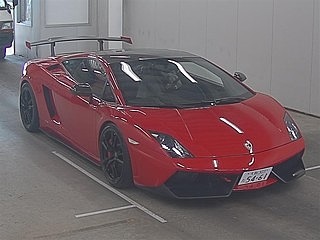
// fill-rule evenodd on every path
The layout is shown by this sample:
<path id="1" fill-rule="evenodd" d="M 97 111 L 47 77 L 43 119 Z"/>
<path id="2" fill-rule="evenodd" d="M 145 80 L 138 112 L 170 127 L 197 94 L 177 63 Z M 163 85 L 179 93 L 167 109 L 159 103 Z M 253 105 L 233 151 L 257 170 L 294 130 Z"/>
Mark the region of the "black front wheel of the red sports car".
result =
<path id="1" fill-rule="evenodd" d="M 108 182 L 117 188 L 132 186 L 129 152 L 120 131 L 114 124 L 105 126 L 100 134 L 102 171 Z"/>

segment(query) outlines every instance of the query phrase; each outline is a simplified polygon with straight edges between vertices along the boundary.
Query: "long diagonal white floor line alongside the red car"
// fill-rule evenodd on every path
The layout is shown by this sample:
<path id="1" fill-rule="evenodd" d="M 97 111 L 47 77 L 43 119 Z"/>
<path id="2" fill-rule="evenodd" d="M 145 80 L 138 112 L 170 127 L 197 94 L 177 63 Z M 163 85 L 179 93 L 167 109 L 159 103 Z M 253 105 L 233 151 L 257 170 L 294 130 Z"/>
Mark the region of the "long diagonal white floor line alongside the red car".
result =
<path id="1" fill-rule="evenodd" d="M 157 221 L 161 222 L 161 223 L 166 223 L 167 220 L 165 220 L 164 218 L 160 217 L 159 215 L 153 213 L 152 211 L 150 211 L 149 209 L 145 208 L 144 206 L 142 206 L 141 204 L 137 203 L 136 201 L 132 200 L 131 198 L 127 197 L 126 195 L 124 195 L 123 193 L 119 192 L 117 189 L 111 187 L 110 185 L 106 184 L 105 182 L 101 181 L 100 179 L 98 179 L 97 177 L 95 177 L 94 175 L 92 175 L 91 173 L 87 172 L 86 170 L 84 170 L 83 168 L 81 168 L 80 166 L 78 166 L 77 164 L 75 164 L 74 162 L 72 162 L 71 160 L 69 160 L 68 158 L 66 158 L 65 156 L 63 156 L 62 154 L 56 152 L 56 151 L 52 151 L 52 153 L 54 155 L 56 155 L 58 158 L 62 159 L 63 161 L 65 161 L 66 163 L 68 163 L 69 165 L 71 165 L 72 167 L 76 168 L 77 170 L 79 170 L 80 172 L 82 172 L 83 174 L 85 174 L 87 177 L 91 178 L 92 180 L 94 180 L 95 182 L 99 183 L 101 186 L 105 187 L 106 189 L 108 189 L 110 192 L 113 192 L 114 194 L 118 195 L 119 197 L 121 197 L 122 199 L 126 200 L 127 202 L 131 203 L 132 205 L 134 205 L 136 208 L 140 209 L 141 211 L 143 211 L 144 213 L 148 214 L 149 216 L 151 216 L 152 218 L 156 219 Z"/>

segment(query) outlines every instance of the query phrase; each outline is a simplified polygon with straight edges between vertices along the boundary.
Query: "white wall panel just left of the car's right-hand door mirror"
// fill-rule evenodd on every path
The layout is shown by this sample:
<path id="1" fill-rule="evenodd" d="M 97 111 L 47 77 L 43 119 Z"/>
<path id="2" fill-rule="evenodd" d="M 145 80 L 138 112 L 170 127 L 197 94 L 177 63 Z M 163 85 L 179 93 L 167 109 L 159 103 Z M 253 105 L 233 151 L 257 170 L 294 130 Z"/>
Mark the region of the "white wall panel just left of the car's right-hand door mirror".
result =
<path id="1" fill-rule="evenodd" d="M 206 55 L 229 71 L 236 68 L 237 8 L 237 0 L 208 1 Z"/>

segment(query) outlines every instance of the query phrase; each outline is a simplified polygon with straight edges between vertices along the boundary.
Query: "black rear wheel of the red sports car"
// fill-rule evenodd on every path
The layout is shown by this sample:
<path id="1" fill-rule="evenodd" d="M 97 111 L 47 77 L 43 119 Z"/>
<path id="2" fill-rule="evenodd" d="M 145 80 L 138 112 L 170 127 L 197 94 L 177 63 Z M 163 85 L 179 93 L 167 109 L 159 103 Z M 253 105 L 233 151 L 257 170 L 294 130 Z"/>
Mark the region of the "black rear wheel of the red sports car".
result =
<path id="1" fill-rule="evenodd" d="M 23 126 L 29 132 L 39 130 L 39 114 L 36 99 L 29 83 L 24 83 L 20 90 L 20 117 Z"/>

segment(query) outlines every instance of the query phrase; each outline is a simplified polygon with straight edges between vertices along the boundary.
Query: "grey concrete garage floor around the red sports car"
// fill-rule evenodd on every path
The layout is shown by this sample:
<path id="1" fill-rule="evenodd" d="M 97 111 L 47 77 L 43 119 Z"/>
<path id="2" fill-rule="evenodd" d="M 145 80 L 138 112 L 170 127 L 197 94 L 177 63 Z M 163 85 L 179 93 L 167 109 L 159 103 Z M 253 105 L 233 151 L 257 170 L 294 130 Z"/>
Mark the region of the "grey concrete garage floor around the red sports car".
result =
<path id="1" fill-rule="evenodd" d="M 207 200 L 164 199 L 137 188 L 113 193 L 99 168 L 23 129 L 22 64 L 15 56 L 0 61 L 1 240 L 319 239 L 319 118 L 292 112 L 308 169 L 293 183 Z M 109 212 L 81 215 L 100 210 Z"/>

